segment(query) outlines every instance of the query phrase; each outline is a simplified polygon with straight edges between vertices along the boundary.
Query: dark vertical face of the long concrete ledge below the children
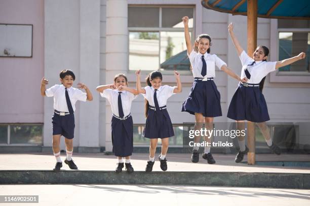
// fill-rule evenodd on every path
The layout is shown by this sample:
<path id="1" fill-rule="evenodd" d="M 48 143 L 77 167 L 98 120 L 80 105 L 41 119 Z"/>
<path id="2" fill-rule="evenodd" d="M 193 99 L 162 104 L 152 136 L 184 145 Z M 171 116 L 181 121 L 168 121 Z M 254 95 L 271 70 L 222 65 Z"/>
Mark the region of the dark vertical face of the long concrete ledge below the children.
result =
<path id="1" fill-rule="evenodd" d="M 0 184 L 156 184 L 310 189 L 310 174 L 2 170 Z"/>

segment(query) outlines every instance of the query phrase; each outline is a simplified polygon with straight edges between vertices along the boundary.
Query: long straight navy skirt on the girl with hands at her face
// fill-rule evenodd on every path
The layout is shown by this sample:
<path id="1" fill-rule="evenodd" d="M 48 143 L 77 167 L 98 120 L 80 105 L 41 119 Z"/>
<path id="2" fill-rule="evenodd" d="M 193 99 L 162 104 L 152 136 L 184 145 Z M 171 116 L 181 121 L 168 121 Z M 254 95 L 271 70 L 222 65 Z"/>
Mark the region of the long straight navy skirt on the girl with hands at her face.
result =
<path id="1" fill-rule="evenodd" d="M 133 121 L 130 116 L 126 120 L 112 117 L 111 120 L 113 153 L 117 157 L 127 157 L 133 151 Z"/>

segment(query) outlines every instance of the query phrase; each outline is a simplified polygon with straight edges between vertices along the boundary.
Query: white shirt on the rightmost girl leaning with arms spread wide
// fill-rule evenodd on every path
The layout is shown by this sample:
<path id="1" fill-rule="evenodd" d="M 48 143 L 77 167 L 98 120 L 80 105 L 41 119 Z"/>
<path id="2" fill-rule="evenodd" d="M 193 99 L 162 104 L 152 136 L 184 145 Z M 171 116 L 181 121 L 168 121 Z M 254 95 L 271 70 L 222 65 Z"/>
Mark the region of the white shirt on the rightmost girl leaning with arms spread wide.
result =
<path id="1" fill-rule="evenodd" d="M 252 64 L 254 60 L 250 58 L 244 50 L 239 58 L 242 64 L 242 79 L 246 77 L 244 70 L 247 68 L 248 65 Z M 251 78 L 249 79 L 249 81 L 247 81 L 247 83 L 259 84 L 262 78 L 264 78 L 268 73 L 276 71 L 276 64 L 277 62 L 255 61 L 253 66 L 248 67 Z"/>

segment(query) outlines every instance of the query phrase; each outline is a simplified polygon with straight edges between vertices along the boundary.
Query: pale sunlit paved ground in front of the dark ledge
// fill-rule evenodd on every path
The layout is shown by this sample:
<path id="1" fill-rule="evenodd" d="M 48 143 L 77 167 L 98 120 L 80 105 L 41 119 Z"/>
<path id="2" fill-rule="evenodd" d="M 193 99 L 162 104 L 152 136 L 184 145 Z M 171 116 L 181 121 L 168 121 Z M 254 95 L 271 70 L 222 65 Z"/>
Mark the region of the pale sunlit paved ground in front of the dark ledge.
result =
<path id="1" fill-rule="evenodd" d="M 39 203 L 0 205 L 251 205 L 310 204 L 310 190 L 158 185 L 0 185 L 2 195 L 38 195 Z"/>

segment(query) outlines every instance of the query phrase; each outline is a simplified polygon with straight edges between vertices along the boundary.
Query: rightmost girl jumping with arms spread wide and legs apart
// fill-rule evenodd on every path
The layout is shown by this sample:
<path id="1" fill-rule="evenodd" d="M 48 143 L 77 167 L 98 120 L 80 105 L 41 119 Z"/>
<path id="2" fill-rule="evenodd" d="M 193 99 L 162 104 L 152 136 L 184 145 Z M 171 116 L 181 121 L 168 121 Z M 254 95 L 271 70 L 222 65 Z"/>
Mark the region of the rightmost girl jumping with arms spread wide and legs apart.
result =
<path id="1" fill-rule="evenodd" d="M 232 29 L 233 26 L 232 23 L 230 23 L 228 26 L 228 31 L 242 63 L 241 77 L 247 77 L 248 82 L 241 82 L 239 84 L 230 101 L 227 117 L 236 120 L 237 129 L 239 130 L 244 129 L 245 120 L 248 122 L 257 123 L 268 147 L 272 149 L 274 153 L 280 155 L 281 150 L 270 138 L 269 129 L 265 123 L 270 120 L 270 118 L 268 115 L 266 101 L 261 91 L 263 88 L 264 79 L 268 73 L 276 71 L 276 69 L 280 67 L 284 67 L 298 60 L 304 59 L 305 53 L 300 53 L 296 57 L 279 62 L 267 62 L 269 49 L 266 46 L 261 45 L 255 49 L 252 58 L 250 58 L 241 47 Z M 248 136 L 249 135 L 254 135 L 254 132 L 248 130 Z M 244 136 L 239 136 L 238 141 L 240 150 L 235 159 L 236 163 L 241 162 L 244 155 L 249 151 L 249 149 L 245 146 Z"/>

